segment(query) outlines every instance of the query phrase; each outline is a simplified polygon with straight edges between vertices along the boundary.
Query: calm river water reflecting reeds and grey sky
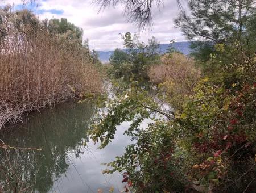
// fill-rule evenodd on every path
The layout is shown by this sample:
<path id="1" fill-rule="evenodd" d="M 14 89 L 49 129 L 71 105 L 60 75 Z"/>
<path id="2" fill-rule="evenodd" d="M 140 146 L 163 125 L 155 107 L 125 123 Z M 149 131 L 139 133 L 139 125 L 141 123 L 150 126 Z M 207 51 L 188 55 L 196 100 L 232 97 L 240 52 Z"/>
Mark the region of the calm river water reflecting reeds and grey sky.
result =
<path id="1" fill-rule="evenodd" d="M 0 148 L 2 187 L 6 176 L 11 177 L 6 192 L 16 183 L 18 187 L 31 186 L 27 192 L 97 192 L 99 188 L 109 192 L 112 186 L 114 192 L 122 191 L 122 175 L 103 175 L 105 166 L 101 163 L 121 156 L 125 146 L 131 144 L 129 137 L 123 135 L 129 123 L 118 127 L 115 139 L 105 149 L 97 149 L 100 144 L 94 145 L 87 133 L 89 120 L 96 111 L 90 103 L 68 102 L 40 113 L 32 112 L 23 124 L 0 133 L 6 145 L 18 148 L 9 149 L 10 163 L 5 149 Z"/>

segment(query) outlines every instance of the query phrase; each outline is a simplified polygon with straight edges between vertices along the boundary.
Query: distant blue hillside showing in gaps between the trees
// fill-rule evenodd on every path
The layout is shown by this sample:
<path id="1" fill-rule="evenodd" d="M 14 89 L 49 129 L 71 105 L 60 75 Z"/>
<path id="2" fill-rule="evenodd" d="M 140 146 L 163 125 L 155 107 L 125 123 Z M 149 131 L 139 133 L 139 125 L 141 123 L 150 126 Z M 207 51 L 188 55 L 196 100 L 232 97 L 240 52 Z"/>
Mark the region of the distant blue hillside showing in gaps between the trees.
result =
<path id="1" fill-rule="evenodd" d="M 160 44 L 159 52 L 162 54 L 166 53 L 167 49 L 169 48 L 169 45 L 170 44 Z M 174 44 L 172 44 L 172 46 L 175 49 L 177 49 L 178 51 L 182 52 L 185 55 L 188 55 L 191 52 L 190 45 L 191 43 L 189 41 L 175 42 Z M 109 57 L 114 51 L 106 51 L 106 52 L 97 51 L 97 52 L 98 52 L 100 61 L 105 63 L 105 62 L 109 62 Z"/>

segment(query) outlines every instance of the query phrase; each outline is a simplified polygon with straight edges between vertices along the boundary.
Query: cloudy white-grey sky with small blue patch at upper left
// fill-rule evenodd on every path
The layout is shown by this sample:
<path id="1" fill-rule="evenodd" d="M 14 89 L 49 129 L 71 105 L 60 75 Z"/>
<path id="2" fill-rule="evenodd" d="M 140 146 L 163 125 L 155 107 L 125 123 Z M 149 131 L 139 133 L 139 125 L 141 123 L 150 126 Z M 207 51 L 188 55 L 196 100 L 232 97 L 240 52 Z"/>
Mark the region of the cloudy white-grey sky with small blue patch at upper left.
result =
<path id="1" fill-rule="evenodd" d="M 98 12 L 99 6 L 94 0 L 38 0 L 34 4 L 23 5 L 22 0 L 0 0 L 0 5 L 15 5 L 15 9 L 31 9 L 40 19 L 67 18 L 69 22 L 83 28 L 84 39 L 89 39 L 91 49 L 110 51 L 122 48 L 120 33 L 137 33 L 142 41 L 155 36 L 160 43 L 185 41 L 181 31 L 174 26 L 174 18 L 178 14 L 176 0 L 164 1 L 159 10 L 156 6 L 152 11 L 154 26 L 152 31 L 139 32 L 123 15 L 122 7 L 110 7 Z"/>

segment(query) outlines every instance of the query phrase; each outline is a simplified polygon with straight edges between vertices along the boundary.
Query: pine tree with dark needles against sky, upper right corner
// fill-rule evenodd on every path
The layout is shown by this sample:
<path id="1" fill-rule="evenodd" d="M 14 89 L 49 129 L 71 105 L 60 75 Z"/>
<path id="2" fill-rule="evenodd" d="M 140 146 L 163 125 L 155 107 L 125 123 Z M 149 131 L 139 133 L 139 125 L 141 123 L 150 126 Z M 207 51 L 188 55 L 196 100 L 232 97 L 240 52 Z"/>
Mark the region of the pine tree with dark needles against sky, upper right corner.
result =
<path id="1" fill-rule="evenodd" d="M 189 14 L 182 11 L 175 22 L 189 40 L 199 41 L 193 44 L 197 50 L 195 56 L 208 60 L 210 53 L 216 51 L 215 44 L 229 47 L 226 49 L 232 56 L 229 60 L 241 56 L 237 53 L 232 55 L 231 51 L 234 44 L 238 44 L 237 50 L 241 53 L 247 48 L 246 24 L 255 12 L 253 0 L 189 0 L 188 6 Z M 205 55 L 207 52 L 209 54 Z"/>

